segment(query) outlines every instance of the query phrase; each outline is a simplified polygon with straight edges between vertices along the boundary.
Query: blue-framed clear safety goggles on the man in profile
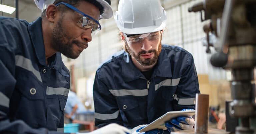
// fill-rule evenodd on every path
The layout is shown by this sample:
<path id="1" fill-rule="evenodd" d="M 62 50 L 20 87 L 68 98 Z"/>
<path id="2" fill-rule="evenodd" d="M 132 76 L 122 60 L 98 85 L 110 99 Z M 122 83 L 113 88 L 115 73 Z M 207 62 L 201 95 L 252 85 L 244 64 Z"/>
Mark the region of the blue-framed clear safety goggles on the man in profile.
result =
<path id="1" fill-rule="evenodd" d="M 70 8 L 70 9 L 80 13 L 81 15 L 83 15 L 81 20 L 79 20 L 79 22 L 78 22 L 79 26 L 82 29 L 87 30 L 88 28 L 91 28 L 92 35 L 97 34 L 101 30 L 100 23 L 97 20 L 95 20 L 94 18 L 92 18 L 91 16 L 83 13 L 82 11 L 78 10 L 77 8 L 75 8 L 74 6 L 71 6 L 70 4 L 65 3 L 65 2 L 59 2 L 55 6 L 58 6 L 60 4 L 63 4 L 65 6 L 67 6 L 68 8 Z"/>

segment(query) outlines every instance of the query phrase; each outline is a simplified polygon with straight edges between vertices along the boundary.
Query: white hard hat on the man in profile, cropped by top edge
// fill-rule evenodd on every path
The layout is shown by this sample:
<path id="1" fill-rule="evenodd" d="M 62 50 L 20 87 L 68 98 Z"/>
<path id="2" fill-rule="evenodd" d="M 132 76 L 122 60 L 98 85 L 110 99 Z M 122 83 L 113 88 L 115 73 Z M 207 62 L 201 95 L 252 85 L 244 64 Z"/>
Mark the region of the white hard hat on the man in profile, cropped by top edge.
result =
<path id="1" fill-rule="evenodd" d="M 55 0 L 35 0 L 39 9 L 44 11 L 49 5 L 53 4 Z M 103 7 L 103 13 L 100 15 L 101 19 L 109 19 L 113 16 L 113 9 L 111 8 L 110 0 L 96 0 Z"/>

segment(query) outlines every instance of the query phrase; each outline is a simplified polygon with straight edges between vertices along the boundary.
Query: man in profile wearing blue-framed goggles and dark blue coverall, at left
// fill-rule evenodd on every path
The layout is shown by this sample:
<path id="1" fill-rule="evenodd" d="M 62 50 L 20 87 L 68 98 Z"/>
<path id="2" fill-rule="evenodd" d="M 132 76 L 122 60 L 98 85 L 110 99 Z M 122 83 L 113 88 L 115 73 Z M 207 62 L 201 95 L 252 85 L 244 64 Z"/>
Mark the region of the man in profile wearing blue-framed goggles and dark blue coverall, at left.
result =
<path id="1" fill-rule="evenodd" d="M 75 59 L 113 15 L 110 0 L 35 0 L 36 21 L 0 17 L 0 133 L 63 133 L 70 73 L 61 53 Z M 111 124 L 91 134 L 125 134 Z"/>

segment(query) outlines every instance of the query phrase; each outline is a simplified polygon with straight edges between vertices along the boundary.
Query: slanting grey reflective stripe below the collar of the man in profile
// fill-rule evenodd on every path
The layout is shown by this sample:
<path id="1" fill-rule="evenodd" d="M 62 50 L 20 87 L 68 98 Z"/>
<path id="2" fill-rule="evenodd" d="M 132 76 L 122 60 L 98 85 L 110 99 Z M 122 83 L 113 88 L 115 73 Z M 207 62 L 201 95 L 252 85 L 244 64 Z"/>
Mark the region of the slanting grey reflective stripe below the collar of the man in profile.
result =
<path id="1" fill-rule="evenodd" d="M 32 73 L 36 76 L 36 78 L 37 78 L 40 82 L 42 82 L 42 78 L 41 78 L 40 72 L 37 71 L 37 70 L 33 67 L 32 62 L 31 62 L 30 59 L 25 58 L 25 57 L 23 57 L 23 56 L 21 56 L 21 55 L 16 55 L 16 56 L 15 56 L 15 60 L 16 60 L 16 66 L 22 67 L 22 68 L 24 68 L 24 69 L 26 69 L 26 70 L 32 72 Z"/>

